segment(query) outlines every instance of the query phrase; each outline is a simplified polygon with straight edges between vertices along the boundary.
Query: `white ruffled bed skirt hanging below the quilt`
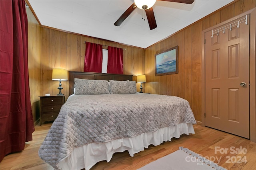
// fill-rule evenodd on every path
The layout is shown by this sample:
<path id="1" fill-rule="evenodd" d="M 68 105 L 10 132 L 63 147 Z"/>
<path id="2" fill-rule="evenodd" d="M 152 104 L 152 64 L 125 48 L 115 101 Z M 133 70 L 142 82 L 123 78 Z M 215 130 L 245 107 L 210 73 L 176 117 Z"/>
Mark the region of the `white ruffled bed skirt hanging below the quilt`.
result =
<path id="1" fill-rule="evenodd" d="M 180 123 L 176 126 L 165 127 L 151 133 L 116 139 L 104 143 L 90 143 L 75 148 L 69 156 L 57 164 L 61 170 L 90 170 L 97 162 L 106 160 L 109 162 L 116 152 L 128 150 L 130 156 L 134 156 L 149 145 L 160 145 L 163 141 L 171 141 L 171 138 L 180 138 L 180 135 L 195 133 L 192 123 Z"/>

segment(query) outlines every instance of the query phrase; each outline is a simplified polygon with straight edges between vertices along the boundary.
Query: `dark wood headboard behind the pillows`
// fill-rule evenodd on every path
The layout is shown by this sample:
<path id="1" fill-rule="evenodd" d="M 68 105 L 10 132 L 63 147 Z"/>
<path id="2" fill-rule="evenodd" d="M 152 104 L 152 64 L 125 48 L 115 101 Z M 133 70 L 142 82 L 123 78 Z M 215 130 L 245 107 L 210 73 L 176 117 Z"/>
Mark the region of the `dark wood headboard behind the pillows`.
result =
<path id="1" fill-rule="evenodd" d="M 98 72 L 78 72 L 69 71 L 69 96 L 74 93 L 74 81 L 75 78 L 89 79 L 89 80 L 130 80 L 132 81 L 132 75 L 127 74 L 107 74 Z"/>

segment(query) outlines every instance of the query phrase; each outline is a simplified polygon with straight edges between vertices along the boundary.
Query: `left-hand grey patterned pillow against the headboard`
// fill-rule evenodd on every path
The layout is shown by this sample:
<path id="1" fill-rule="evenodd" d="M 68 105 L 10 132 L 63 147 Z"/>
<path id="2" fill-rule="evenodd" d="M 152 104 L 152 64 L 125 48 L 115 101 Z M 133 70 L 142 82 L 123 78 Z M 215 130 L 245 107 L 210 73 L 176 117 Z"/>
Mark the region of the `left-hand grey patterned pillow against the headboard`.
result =
<path id="1" fill-rule="evenodd" d="M 110 94 L 108 81 L 75 78 L 74 94 Z"/>

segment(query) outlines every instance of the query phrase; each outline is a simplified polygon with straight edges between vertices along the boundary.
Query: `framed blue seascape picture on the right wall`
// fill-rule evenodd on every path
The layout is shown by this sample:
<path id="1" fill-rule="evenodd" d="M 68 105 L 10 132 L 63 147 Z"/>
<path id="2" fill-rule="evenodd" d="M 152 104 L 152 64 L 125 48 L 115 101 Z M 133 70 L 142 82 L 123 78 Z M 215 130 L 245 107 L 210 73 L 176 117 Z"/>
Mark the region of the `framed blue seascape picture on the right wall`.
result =
<path id="1" fill-rule="evenodd" d="M 178 45 L 155 54 L 156 76 L 178 73 Z"/>

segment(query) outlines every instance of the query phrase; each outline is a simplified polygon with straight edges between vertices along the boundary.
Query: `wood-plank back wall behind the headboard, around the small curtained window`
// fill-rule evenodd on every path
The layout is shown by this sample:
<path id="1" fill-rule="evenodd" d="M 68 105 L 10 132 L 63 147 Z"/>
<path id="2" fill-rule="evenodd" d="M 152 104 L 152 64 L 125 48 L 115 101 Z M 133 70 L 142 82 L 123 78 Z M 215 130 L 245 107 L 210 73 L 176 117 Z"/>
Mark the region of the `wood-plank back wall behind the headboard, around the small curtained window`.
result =
<path id="1" fill-rule="evenodd" d="M 145 50 L 83 35 L 67 33 L 46 27 L 41 28 L 41 94 L 58 94 L 58 81 L 51 80 L 53 68 L 84 71 L 85 43 L 97 43 L 123 50 L 124 74 L 142 74 Z M 138 84 L 139 85 L 139 84 Z M 68 98 L 68 81 L 62 81 L 62 93 Z"/>

